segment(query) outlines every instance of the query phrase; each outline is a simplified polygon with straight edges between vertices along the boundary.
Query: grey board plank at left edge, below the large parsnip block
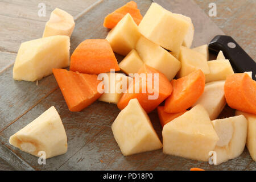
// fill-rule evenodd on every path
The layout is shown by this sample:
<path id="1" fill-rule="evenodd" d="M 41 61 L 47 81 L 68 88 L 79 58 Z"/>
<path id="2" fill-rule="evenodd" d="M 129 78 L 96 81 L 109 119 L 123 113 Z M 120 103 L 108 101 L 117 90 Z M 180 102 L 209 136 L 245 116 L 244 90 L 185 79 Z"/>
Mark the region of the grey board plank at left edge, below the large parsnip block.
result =
<path id="1" fill-rule="evenodd" d="M 0 134 L 3 129 L 57 89 L 53 75 L 36 82 L 13 80 L 13 66 L 0 75 Z"/>

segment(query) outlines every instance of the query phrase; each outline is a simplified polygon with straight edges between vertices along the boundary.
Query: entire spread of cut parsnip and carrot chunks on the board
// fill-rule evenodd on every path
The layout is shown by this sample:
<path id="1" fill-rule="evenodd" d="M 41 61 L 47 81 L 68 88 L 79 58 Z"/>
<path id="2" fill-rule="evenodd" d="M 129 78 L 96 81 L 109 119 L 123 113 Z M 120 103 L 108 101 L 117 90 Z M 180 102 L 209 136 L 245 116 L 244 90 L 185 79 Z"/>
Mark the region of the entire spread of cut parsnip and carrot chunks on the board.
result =
<path id="1" fill-rule="evenodd" d="M 156 3 L 143 17 L 131 1 L 107 15 L 104 27 L 112 29 L 106 39 L 86 39 L 70 57 L 75 22 L 55 9 L 43 38 L 21 44 L 13 78 L 37 81 L 53 73 L 71 111 L 97 100 L 116 104 L 121 111 L 112 131 L 125 156 L 163 148 L 165 154 L 205 162 L 214 154 L 214 164 L 220 164 L 247 145 L 256 160 L 256 82 L 250 73 L 234 73 L 221 51 L 209 61 L 207 45 L 191 48 L 191 18 Z M 114 52 L 125 56 L 119 64 Z M 236 116 L 217 119 L 226 104 Z M 155 109 L 163 142 L 147 115 Z M 54 106 L 10 143 L 35 156 L 45 151 L 46 158 L 67 152 Z"/>

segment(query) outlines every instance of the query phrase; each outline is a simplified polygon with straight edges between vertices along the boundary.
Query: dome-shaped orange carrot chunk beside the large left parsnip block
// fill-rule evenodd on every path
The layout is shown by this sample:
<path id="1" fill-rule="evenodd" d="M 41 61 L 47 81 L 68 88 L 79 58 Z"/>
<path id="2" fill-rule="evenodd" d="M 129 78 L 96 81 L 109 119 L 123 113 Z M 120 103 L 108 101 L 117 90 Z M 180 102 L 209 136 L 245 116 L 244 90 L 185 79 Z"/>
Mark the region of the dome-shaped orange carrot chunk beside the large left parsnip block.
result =
<path id="1" fill-rule="evenodd" d="M 108 40 L 84 40 L 77 46 L 71 56 L 71 71 L 99 74 L 110 72 L 110 69 L 120 70 Z"/>

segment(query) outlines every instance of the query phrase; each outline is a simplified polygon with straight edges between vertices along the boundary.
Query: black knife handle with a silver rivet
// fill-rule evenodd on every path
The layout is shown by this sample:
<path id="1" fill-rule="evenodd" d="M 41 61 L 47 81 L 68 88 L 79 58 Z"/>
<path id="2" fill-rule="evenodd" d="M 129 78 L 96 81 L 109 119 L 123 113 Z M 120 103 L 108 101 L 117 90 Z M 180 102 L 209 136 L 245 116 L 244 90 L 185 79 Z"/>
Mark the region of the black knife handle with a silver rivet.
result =
<path id="1" fill-rule="evenodd" d="M 222 51 L 226 59 L 229 59 L 236 73 L 253 72 L 252 78 L 255 80 L 256 63 L 238 43 L 231 37 L 226 35 L 217 35 L 209 44 L 209 51 L 218 53 Z"/>

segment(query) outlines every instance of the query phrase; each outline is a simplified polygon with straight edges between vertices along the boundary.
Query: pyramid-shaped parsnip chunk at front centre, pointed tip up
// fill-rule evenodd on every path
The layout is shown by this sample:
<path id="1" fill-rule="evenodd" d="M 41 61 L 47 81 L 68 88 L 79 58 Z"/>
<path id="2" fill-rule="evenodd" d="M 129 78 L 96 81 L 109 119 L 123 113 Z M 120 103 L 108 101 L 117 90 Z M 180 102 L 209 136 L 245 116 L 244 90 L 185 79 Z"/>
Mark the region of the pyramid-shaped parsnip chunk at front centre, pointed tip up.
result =
<path id="1" fill-rule="evenodd" d="M 150 118 L 137 98 L 121 110 L 112 124 L 112 131 L 125 156 L 162 148 Z"/>

